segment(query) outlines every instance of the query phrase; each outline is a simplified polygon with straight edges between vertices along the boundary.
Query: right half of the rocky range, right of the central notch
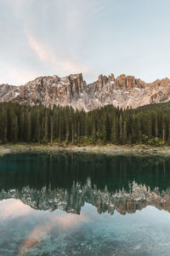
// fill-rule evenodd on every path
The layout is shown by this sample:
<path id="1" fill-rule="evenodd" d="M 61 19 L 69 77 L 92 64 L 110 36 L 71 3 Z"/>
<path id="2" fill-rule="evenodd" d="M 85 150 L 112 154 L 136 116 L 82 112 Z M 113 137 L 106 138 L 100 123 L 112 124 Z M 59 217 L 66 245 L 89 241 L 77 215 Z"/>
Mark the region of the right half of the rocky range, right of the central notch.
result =
<path id="1" fill-rule="evenodd" d="M 100 75 L 97 82 L 88 84 L 91 96 L 90 108 L 113 104 L 119 108 L 137 108 L 146 104 L 170 100 L 170 80 L 156 80 L 146 84 L 133 76 L 120 75 L 115 79 Z"/>

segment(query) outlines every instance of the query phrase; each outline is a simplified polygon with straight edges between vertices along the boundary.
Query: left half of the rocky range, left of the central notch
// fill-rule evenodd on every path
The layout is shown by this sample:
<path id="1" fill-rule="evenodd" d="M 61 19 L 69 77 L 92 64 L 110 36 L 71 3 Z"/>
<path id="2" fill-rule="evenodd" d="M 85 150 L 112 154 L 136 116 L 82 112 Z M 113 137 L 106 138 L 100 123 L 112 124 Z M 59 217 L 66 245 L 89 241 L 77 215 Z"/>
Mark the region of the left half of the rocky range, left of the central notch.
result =
<path id="1" fill-rule="evenodd" d="M 31 106 L 42 104 L 83 108 L 86 104 L 86 82 L 82 74 L 60 79 L 58 76 L 40 77 L 26 85 L 0 85 L 0 102 L 19 102 Z M 83 104 L 82 104 L 83 102 Z"/>

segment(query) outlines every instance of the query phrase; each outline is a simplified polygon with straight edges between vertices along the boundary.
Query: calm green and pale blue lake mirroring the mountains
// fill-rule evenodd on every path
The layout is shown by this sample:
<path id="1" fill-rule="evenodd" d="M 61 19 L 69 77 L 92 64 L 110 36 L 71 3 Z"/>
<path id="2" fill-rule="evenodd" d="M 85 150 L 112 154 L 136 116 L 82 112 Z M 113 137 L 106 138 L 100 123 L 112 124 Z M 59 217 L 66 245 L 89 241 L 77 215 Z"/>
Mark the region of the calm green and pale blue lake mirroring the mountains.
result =
<path id="1" fill-rule="evenodd" d="M 0 157 L 0 255 L 170 255 L 170 160 Z"/>

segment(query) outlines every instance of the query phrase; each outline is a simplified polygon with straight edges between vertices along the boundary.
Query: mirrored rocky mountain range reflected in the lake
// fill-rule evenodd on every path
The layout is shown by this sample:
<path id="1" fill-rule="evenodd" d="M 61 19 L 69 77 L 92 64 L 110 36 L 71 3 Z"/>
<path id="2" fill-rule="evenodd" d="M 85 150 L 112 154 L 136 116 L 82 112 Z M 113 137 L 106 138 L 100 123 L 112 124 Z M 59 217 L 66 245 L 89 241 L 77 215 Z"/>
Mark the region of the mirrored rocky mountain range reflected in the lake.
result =
<path id="1" fill-rule="evenodd" d="M 133 213 L 144 207 L 153 206 L 170 212 L 170 190 L 159 192 L 159 189 L 150 190 L 137 183 L 129 184 L 131 192 L 119 190 L 116 193 L 99 190 L 93 187 L 88 178 L 87 183 L 81 186 L 73 183 L 71 190 L 67 189 L 31 189 L 29 186 L 18 189 L 0 191 L 0 200 L 15 198 L 26 205 L 43 211 L 53 212 L 60 209 L 65 212 L 80 214 L 86 202 L 96 207 L 98 213 L 115 211 L 121 214 Z"/>

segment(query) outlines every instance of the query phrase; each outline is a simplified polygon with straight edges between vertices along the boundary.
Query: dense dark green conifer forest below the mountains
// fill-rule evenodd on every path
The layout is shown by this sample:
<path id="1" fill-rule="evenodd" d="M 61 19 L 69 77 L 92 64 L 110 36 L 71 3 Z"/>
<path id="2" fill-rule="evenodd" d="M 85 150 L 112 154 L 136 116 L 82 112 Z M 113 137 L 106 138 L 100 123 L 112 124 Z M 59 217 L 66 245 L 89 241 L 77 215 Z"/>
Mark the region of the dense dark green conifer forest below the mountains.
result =
<path id="1" fill-rule="evenodd" d="M 70 107 L 0 103 L 0 143 L 170 144 L 170 102 L 88 113 Z"/>

